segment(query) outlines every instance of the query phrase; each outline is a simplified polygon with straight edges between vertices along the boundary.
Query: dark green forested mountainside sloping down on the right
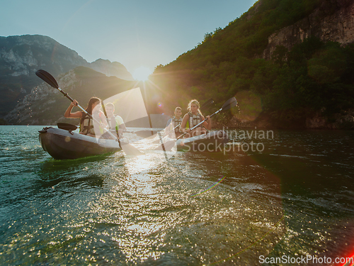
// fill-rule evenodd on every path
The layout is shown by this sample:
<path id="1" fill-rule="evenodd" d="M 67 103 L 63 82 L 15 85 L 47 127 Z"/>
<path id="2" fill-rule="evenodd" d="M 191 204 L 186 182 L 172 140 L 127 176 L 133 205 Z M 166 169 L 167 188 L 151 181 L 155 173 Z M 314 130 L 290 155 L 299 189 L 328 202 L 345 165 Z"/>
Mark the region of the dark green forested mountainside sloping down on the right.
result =
<path id="1" fill-rule="evenodd" d="M 310 37 L 290 51 L 278 46 L 271 60 L 262 55 L 268 36 L 275 31 L 309 16 L 314 9 L 319 9 L 320 19 L 349 2 L 258 1 L 225 28 L 206 33 L 193 50 L 156 67 L 151 81 L 160 88 L 166 106 L 185 107 L 193 98 L 201 102 L 213 98 L 222 105 L 247 92 L 261 99 L 259 118 L 300 128 L 315 113 L 331 121 L 335 114 L 354 106 L 353 44 L 341 47 Z"/>

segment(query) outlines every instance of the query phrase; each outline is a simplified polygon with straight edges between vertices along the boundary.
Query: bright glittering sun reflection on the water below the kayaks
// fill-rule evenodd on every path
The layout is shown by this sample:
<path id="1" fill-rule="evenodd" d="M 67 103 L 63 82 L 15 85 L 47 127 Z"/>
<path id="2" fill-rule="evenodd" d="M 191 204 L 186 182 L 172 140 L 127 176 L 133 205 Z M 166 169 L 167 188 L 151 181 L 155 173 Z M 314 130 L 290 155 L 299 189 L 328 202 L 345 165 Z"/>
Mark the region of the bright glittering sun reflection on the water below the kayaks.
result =
<path id="1" fill-rule="evenodd" d="M 161 250 L 165 231 L 172 224 L 154 215 L 161 204 L 157 185 L 161 177 L 152 174 L 161 164 L 159 157 L 152 153 L 125 158 L 124 177 L 119 167 L 111 175 L 118 184 L 110 184 L 110 192 L 91 206 L 96 222 L 105 225 L 100 235 L 112 242 L 126 263 L 157 260 L 165 253 Z"/>

